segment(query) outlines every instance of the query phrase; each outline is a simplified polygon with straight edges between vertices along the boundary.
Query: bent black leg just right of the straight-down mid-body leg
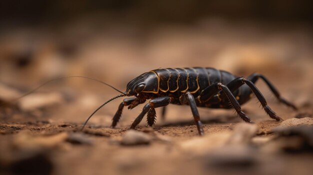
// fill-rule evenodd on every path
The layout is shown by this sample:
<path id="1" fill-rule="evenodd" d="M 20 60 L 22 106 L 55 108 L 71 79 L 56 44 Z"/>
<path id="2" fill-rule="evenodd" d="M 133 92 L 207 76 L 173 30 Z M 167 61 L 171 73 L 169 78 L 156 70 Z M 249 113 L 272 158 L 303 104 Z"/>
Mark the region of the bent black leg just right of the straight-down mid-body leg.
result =
<path id="1" fill-rule="evenodd" d="M 227 88 L 227 86 L 221 84 L 221 83 L 214 83 L 205 88 L 201 94 L 197 97 L 197 100 L 200 103 L 206 102 L 209 99 L 211 99 L 214 95 L 216 95 L 220 90 L 226 95 L 227 99 L 229 100 L 232 107 L 235 109 L 237 114 L 240 116 L 240 118 L 247 123 L 253 123 L 252 120 L 246 116 L 244 112 L 241 111 L 240 104 L 235 99 L 235 97 L 232 95 L 230 90 Z"/>

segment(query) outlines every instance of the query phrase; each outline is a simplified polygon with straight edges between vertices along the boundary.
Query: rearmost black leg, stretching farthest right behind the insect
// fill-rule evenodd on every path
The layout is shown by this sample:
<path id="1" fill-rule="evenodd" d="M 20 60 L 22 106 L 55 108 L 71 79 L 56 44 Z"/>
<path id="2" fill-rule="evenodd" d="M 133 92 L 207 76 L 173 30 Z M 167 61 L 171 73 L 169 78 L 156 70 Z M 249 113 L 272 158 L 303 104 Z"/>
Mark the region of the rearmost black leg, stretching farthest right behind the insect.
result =
<path id="1" fill-rule="evenodd" d="M 247 77 L 247 79 L 250 80 L 252 83 L 255 83 L 258 80 L 258 78 L 261 78 L 267 84 L 267 86 L 269 87 L 271 92 L 275 95 L 275 97 L 279 100 L 279 102 L 287 105 L 288 107 L 291 107 L 293 110 L 297 110 L 295 105 L 293 105 L 292 103 L 288 102 L 287 100 L 280 96 L 278 90 L 274 87 L 274 85 L 263 75 L 253 73 L 252 75 Z"/>

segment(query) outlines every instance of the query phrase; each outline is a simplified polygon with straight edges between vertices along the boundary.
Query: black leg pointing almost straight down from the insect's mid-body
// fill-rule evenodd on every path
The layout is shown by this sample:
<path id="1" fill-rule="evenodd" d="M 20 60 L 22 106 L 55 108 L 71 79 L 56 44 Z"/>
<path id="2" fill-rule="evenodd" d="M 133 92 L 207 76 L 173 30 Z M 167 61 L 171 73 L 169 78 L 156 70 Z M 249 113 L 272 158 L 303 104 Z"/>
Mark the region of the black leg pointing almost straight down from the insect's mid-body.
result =
<path id="1" fill-rule="evenodd" d="M 198 130 L 198 133 L 200 136 L 202 136 L 204 134 L 203 126 L 202 126 L 202 123 L 200 121 L 200 115 L 199 115 L 198 109 L 196 108 L 196 103 L 194 101 L 194 97 L 191 95 L 190 92 L 185 92 L 181 95 L 179 100 L 180 100 L 181 104 L 185 104 L 186 102 L 188 102 L 188 104 L 191 108 L 191 112 L 192 112 L 197 130 Z"/>

